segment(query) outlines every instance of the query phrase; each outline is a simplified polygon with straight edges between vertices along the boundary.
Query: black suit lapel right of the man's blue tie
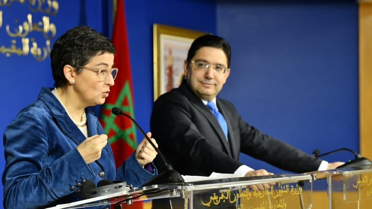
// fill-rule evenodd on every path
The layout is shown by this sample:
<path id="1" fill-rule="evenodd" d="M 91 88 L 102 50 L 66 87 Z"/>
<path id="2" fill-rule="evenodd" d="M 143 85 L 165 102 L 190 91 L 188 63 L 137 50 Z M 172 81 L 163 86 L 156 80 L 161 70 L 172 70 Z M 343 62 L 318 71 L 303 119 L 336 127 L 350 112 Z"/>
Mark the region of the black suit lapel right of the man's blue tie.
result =
<path id="1" fill-rule="evenodd" d="M 235 159 L 235 160 L 238 160 L 238 152 L 237 152 L 237 141 L 235 140 L 234 138 L 234 133 L 232 132 L 232 119 L 234 118 L 234 116 L 232 116 L 230 114 L 229 111 L 227 111 L 228 107 L 225 106 L 223 103 L 219 102 L 219 99 L 216 100 L 217 102 L 217 108 L 218 108 L 218 111 L 224 116 L 225 120 L 226 120 L 226 123 L 227 123 L 227 129 L 228 129 L 228 142 L 230 143 L 230 147 L 231 147 L 231 154 L 232 154 L 232 157 Z"/>

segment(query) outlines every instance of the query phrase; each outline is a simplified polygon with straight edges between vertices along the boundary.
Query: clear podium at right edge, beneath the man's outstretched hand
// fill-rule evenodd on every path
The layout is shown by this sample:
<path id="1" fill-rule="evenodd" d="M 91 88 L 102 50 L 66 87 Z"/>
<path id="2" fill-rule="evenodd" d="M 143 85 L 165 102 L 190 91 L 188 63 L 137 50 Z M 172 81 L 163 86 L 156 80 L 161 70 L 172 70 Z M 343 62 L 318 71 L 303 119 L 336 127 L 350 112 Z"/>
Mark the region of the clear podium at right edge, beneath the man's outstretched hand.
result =
<path id="1" fill-rule="evenodd" d="M 306 174 L 310 174 L 313 178 L 313 208 L 371 208 L 371 165 L 314 171 Z"/>

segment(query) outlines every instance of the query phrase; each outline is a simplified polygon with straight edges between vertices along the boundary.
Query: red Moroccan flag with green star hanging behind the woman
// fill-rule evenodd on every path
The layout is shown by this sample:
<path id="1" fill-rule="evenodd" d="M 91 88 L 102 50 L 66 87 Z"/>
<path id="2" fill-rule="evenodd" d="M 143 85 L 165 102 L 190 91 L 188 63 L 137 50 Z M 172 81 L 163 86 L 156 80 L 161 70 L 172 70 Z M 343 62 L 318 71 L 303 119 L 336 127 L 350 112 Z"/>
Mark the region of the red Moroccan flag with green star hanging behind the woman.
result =
<path id="1" fill-rule="evenodd" d="M 113 67 L 118 68 L 119 71 L 115 79 L 115 85 L 110 88 L 109 96 L 101 106 L 99 120 L 108 135 L 115 165 L 118 168 L 137 147 L 136 129 L 132 121 L 127 117 L 116 116 L 111 113 L 112 107 L 119 107 L 123 112 L 134 118 L 132 75 L 123 0 L 117 1 L 112 43 L 116 48 Z"/>

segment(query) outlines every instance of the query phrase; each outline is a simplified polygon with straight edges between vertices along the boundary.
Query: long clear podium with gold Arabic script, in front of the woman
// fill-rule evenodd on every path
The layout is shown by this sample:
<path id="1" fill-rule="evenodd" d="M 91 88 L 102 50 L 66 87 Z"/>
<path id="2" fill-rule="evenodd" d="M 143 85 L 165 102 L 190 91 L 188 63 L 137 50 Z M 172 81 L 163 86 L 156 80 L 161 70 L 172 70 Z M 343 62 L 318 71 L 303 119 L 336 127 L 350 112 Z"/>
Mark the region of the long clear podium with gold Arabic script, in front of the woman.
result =
<path id="1" fill-rule="evenodd" d="M 266 189 L 253 189 L 260 184 L 266 184 Z M 155 184 L 57 205 L 50 209 L 91 206 L 110 208 L 119 204 L 131 208 L 133 202 L 148 200 L 153 201 L 153 207 L 156 206 L 155 202 L 164 201 L 172 209 L 309 209 L 312 208 L 312 176 L 279 174 Z"/>

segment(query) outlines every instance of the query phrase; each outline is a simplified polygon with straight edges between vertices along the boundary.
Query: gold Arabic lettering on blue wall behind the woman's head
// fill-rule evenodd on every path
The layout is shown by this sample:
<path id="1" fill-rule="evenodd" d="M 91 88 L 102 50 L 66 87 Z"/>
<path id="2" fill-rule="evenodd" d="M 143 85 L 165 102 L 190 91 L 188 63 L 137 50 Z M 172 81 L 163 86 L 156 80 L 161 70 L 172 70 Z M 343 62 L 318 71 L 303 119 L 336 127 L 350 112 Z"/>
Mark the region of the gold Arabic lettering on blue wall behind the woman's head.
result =
<path id="1" fill-rule="evenodd" d="M 18 56 L 33 55 L 35 60 L 44 61 L 50 54 L 50 40 L 55 37 L 57 33 L 57 27 L 54 23 L 51 23 L 50 17 L 43 15 L 40 19 L 35 20 L 31 13 L 22 15 L 21 18 L 25 18 L 25 21 L 19 23 L 18 19 L 14 20 L 13 24 L 4 24 L 4 17 L 6 12 L 9 11 L 10 6 L 16 6 L 15 3 L 21 5 L 26 4 L 31 12 L 47 14 L 54 16 L 57 14 L 59 9 L 58 1 L 56 0 L 0 0 L 0 9 L 8 9 L 8 11 L 0 10 L 0 29 L 6 30 L 9 36 L 8 44 L 1 43 L 7 39 L 1 38 L 0 56 L 5 55 L 6 57 L 12 56 L 12 54 Z M 8 8 L 5 8 L 8 7 Z M 4 27 L 5 26 L 5 27 Z M 36 32 L 42 33 L 44 41 L 42 44 L 36 42 Z M 10 43 L 10 44 L 9 44 Z M 45 44 L 44 44 L 45 43 Z M 44 46 L 41 46 L 44 45 Z"/>

